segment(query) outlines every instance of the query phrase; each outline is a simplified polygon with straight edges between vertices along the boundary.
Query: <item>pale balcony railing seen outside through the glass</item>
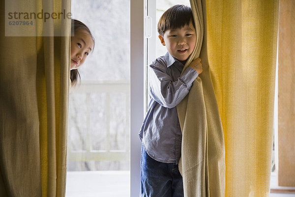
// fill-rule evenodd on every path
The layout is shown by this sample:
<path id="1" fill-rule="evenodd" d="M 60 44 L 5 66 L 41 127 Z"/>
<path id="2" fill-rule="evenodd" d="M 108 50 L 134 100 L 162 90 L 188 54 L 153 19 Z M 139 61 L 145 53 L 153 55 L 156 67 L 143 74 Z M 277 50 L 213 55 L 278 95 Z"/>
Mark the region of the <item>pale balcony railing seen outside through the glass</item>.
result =
<path id="1" fill-rule="evenodd" d="M 93 96 L 94 95 L 94 96 Z M 102 95 L 104 99 L 98 100 L 94 97 L 97 95 Z M 83 101 L 80 104 L 75 103 L 75 99 L 83 97 Z M 114 103 L 114 97 L 115 103 Z M 101 98 L 101 97 L 100 97 Z M 98 114 L 95 114 L 95 111 L 100 109 L 93 109 L 94 106 L 91 106 L 91 99 L 98 100 L 101 107 L 103 108 L 103 115 L 99 120 L 102 120 L 101 125 L 98 125 L 97 128 L 91 128 L 91 125 L 96 123 L 91 123 L 93 121 L 93 116 L 98 117 Z M 113 101 L 112 101 L 113 99 Z M 116 101 L 117 99 L 117 101 Z M 78 99 L 79 101 L 79 99 Z M 117 117 L 114 117 L 114 107 L 118 105 L 123 111 L 117 112 Z M 103 102 L 103 103 L 101 103 Z M 81 105 L 81 103 L 84 105 Z M 77 106 L 78 105 L 78 106 Z M 123 106 L 121 106 L 123 105 Z M 75 125 L 75 121 L 79 121 L 79 117 L 76 117 L 76 114 L 79 114 L 80 111 L 76 110 L 75 113 L 72 113 L 70 116 L 69 122 L 69 132 L 68 132 L 68 161 L 69 162 L 87 162 L 87 161 L 129 161 L 130 154 L 130 82 L 129 81 L 83 81 L 81 85 L 77 85 L 76 88 L 70 90 L 70 114 L 72 108 L 82 107 L 85 108 L 83 114 L 83 125 L 82 129 L 79 129 Z M 118 115 L 119 113 L 119 115 Z M 81 113 L 80 113 L 81 115 Z M 74 118 L 73 118 L 74 116 Z M 91 119 L 92 118 L 92 119 Z M 81 118 L 80 118 L 81 119 Z M 116 120 L 120 119 L 120 125 L 116 125 Z M 113 120 L 113 121 L 112 121 Z M 112 121 L 112 122 L 111 122 Z M 94 121 L 95 122 L 95 121 Z M 113 125 L 112 125 L 113 124 Z M 115 125 L 115 126 L 114 126 Z M 123 128 L 122 128 L 123 127 Z M 75 129 L 78 128 L 78 129 Z M 80 138 L 76 137 L 72 139 L 73 135 L 72 130 L 79 132 Z M 93 136 L 93 133 L 102 133 L 99 137 Z M 83 138 L 83 139 L 82 139 Z M 95 141 L 96 138 L 101 138 L 100 142 Z M 123 139 L 122 139 L 123 138 Z M 77 140 L 79 144 L 83 144 L 82 148 L 77 148 L 71 144 L 77 144 L 71 140 Z M 79 141 L 81 140 L 81 141 Z M 114 142 L 114 140 L 117 140 Z M 102 144 L 102 145 L 101 145 Z M 117 146 L 114 146 L 117 144 Z M 95 147 L 96 145 L 96 147 Z M 99 148 L 97 148 L 99 147 Z"/>

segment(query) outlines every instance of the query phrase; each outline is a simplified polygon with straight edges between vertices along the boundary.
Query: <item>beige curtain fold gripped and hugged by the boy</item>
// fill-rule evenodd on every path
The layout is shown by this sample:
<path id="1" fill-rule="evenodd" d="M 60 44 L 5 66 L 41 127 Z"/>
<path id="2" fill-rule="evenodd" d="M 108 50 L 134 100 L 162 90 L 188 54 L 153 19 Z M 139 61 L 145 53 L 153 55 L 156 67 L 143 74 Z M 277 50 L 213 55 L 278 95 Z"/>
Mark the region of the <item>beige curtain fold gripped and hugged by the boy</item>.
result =
<path id="1" fill-rule="evenodd" d="M 197 33 L 192 59 L 202 59 L 203 72 L 189 94 L 177 105 L 182 131 L 179 171 L 185 197 L 223 197 L 225 194 L 225 147 L 222 124 L 207 57 L 206 0 L 190 0 Z"/>

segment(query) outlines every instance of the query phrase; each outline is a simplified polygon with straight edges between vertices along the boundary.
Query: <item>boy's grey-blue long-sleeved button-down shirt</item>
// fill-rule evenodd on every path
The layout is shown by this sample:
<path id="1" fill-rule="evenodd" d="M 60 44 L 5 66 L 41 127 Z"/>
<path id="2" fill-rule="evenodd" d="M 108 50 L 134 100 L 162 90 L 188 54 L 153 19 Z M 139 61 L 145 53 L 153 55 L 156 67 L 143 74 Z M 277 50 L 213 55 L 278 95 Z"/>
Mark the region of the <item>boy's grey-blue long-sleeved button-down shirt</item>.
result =
<path id="1" fill-rule="evenodd" d="M 182 133 L 176 106 L 188 94 L 198 72 L 187 67 L 180 77 L 183 65 L 168 52 L 149 67 L 150 102 L 139 136 L 151 158 L 178 164 Z"/>

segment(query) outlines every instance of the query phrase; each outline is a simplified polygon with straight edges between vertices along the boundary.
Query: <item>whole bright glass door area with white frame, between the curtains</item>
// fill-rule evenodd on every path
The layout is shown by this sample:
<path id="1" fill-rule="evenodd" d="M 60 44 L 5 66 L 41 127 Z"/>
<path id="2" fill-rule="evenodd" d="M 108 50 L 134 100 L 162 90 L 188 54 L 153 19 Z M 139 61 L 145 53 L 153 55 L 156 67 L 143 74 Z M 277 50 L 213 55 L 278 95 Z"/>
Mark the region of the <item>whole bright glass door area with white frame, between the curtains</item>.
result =
<path id="1" fill-rule="evenodd" d="M 175 4 L 190 5 L 189 0 L 72 0 L 73 18 L 89 26 L 95 48 L 79 68 L 81 86 L 70 92 L 66 197 L 138 196 L 147 67 L 166 53 L 156 27 Z M 152 18 L 150 38 L 144 38 L 145 16 Z"/>

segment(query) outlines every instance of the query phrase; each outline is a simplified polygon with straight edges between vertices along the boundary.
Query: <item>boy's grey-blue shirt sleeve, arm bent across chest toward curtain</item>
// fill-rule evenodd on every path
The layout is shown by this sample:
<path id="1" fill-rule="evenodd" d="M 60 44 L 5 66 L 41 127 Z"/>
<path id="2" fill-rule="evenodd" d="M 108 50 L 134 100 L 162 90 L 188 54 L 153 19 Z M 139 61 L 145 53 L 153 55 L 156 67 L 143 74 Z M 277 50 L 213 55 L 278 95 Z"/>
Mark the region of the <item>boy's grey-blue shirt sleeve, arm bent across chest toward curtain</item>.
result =
<path id="1" fill-rule="evenodd" d="M 149 95 L 164 107 L 173 108 L 188 94 L 198 72 L 187 67 L 183 74 L 173 81 L 166 65 L 152 64 L 149 66 Z"/>

